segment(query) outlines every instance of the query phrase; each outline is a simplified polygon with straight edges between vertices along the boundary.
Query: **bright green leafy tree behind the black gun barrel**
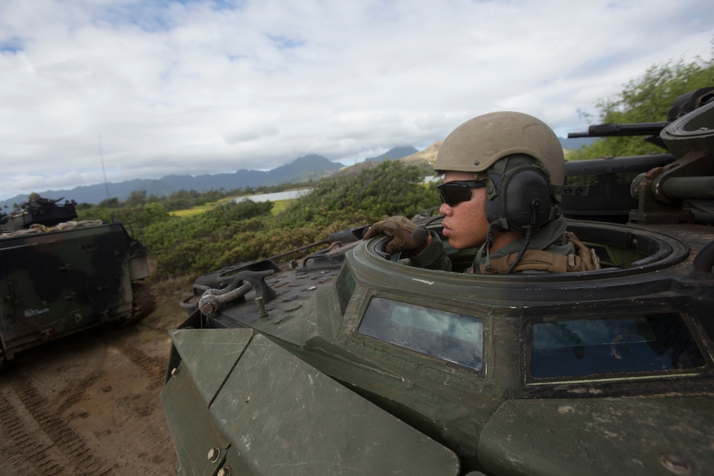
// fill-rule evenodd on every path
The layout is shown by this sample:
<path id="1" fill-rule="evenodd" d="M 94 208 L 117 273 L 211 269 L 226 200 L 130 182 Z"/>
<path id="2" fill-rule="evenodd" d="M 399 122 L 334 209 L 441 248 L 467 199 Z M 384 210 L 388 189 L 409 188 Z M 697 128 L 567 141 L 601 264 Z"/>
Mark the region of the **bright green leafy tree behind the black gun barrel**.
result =
<path id="1" fill-rule="evenodd" d="M 681 94 L 714 86 L 714 51 L 710 59 L 697 57 L 655 64 L 638 79 L 628 82 L 623 91 L 595 104 L 600 117 L 593 123 L 635 123 L 667 120 L 667 112 Z M 592 119 L 592 118 L 588 118 Z M 590 146 L 568 154 L 568 160 L 637 156 L 662 151 L 640 136 L 598 138 Z"/>

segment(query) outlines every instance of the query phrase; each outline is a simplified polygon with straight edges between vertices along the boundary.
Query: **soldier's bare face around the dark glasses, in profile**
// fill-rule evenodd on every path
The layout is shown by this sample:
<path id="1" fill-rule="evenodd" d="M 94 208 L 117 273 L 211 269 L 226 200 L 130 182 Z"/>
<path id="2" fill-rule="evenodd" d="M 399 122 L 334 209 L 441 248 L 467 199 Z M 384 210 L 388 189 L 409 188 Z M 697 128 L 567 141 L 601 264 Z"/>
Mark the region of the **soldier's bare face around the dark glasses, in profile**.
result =
<path id="1" fill-rule="evenodd" d="M 473 173 L 449 171 L 444 182 L 473 180 Z M 458 250 L 478 248 L 486 242 L 488 221 L 486 220 L 486 188 L 472 188 L 471 200 L 449 206 L 444 203 L 439 212 L 443 219 L 444 236 L 448 243 Z"/>

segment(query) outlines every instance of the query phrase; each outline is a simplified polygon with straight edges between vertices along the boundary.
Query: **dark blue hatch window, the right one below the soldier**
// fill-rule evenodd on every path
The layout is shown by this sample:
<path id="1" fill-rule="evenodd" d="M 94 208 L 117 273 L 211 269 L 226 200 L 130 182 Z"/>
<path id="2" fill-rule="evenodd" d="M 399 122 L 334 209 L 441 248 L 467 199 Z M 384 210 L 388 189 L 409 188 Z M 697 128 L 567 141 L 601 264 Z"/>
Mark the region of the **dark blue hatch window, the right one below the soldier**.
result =
<path id="1" fill-rule="evenodd" d="M 533 378 L 657 373 L 704 365 L 678 314 L 533 324 Z"/>

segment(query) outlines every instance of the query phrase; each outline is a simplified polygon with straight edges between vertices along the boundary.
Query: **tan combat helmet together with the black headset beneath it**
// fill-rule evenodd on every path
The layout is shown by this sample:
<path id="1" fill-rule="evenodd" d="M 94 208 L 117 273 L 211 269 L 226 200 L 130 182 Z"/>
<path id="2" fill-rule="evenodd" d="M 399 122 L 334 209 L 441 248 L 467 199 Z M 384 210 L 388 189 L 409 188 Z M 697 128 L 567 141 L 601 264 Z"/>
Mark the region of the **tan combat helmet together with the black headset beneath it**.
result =
<path id="1" fill-rule="evenodd" d="M 495 112 L 466 121 L 444 140 L 434 170 L 488 174 L 484 208 L 493 230 L 533 233 L 558 216 L 563 148 L 550 127 L 528 114 Z"/>

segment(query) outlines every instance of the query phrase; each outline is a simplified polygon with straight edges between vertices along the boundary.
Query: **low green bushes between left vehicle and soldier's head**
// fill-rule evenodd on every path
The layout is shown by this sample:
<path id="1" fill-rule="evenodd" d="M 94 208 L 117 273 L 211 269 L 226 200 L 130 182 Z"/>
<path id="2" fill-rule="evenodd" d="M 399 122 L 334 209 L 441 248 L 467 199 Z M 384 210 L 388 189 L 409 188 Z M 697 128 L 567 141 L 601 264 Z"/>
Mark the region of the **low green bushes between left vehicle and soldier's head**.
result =
<path id="1" fill-rule="evenodd" d="M 149 246 L 158 279 L 197 276 L 241 261 L 268 258 L 387 216 L 413 216 L 439 203 L 436 187 L 422 182 L 418 166 L 386 161 L 358 173 L 310 183 L 310 193 L 281 201 L 279 211 L 270 201 L 226 201 L 225 192 L 208 197 L 195 191 L 175 193 L 163 201 L 137 192 L 125 202 L 111 199 L 99 206 L 78 207 L 78 219 L 110 221 L 114 216 L 124 223 Z M 174 216 L 170 212 L 180 209 L 176 208 L 180 201 L 184 209 L 198 206 L 206 211 Z M 208 206 L 213 202 L 217 203 Z"/>

